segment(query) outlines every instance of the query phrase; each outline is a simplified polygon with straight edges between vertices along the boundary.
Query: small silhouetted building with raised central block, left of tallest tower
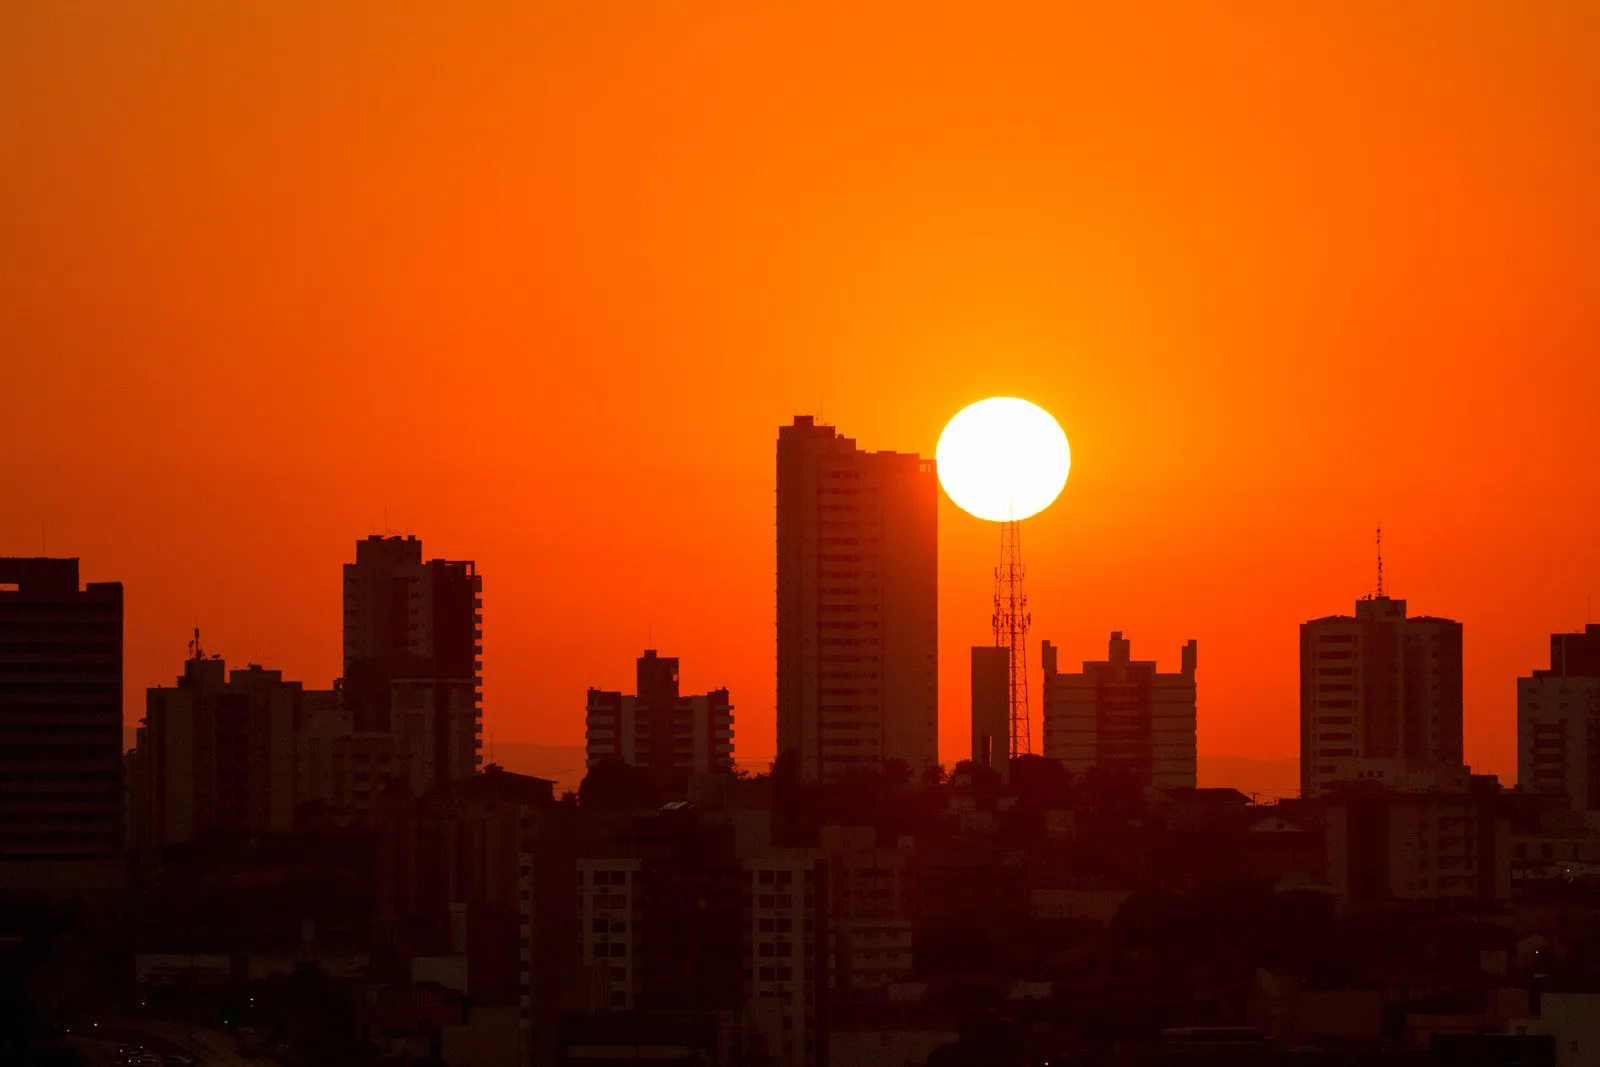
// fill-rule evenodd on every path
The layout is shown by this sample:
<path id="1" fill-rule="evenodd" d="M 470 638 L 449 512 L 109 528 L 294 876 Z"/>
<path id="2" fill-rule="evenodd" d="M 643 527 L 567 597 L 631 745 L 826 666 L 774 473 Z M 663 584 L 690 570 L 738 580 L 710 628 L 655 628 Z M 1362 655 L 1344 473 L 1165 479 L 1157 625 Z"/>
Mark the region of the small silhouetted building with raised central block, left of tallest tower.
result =
<path id="1" fill-rule="evenodd" d="M 733 705 L 728 689 L 678 693 L 678 661 L 646 648 L 635 693 L 589 689 L 584 749 L 589 766 L 621 758 L 654 771 L 710 774 L 733 768 Z"/>

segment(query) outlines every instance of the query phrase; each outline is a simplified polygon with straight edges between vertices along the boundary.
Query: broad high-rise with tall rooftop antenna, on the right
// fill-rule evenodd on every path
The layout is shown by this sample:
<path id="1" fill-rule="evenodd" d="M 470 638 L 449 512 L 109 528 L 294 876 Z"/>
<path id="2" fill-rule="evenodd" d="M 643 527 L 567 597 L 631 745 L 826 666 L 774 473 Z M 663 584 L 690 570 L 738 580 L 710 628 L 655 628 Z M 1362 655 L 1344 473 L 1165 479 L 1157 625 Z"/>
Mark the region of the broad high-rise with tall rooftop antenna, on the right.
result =
<path id="1" fill-rule="evenodd" d="M 1301 624 L 1301 795 L 1461 766 L 1461 624 L 1366 597 Z"/>

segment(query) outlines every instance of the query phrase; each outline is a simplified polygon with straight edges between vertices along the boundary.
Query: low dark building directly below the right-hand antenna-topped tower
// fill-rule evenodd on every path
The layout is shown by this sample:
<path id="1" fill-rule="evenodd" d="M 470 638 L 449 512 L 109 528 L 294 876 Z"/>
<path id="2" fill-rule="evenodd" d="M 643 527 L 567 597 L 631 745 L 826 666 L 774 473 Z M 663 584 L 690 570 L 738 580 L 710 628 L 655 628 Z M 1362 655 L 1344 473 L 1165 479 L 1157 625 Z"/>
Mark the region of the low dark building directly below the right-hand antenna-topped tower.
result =
<path id="1" fill-rule="evenodd" d="M 1344 785 L 1323 795 L 1328 888 L 1341 905 L 1510 899 L 1510 819 L 1499 782 L 1400 793 Z"/>

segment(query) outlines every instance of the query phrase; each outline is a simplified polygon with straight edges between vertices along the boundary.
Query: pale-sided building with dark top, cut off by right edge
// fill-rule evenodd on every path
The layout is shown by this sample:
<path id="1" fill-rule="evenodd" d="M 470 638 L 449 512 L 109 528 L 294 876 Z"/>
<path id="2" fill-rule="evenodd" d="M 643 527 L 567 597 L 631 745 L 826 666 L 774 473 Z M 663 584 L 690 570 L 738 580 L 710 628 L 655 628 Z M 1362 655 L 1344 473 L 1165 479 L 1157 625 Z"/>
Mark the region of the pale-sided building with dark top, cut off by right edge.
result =
<path id="1" fill-rule="evenodd" d="M 1600 624 L 1550 635 L 1550 669 L 1517 678 L 1517 784 L 1600 809 Z"/>

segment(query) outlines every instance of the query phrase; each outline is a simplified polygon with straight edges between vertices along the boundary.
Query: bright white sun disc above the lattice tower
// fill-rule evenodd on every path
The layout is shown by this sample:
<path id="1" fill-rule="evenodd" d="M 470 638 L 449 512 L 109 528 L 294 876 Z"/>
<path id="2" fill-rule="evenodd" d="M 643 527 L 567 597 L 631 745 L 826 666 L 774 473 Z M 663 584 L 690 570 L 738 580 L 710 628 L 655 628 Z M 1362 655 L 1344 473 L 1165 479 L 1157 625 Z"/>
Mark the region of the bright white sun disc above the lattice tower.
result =
<path id="1" fill-rule="evenodd" d="M 1037 403 L 990 397 L 955 413 L 934 459 L 939 485 L 962 510 L 1003 523 L 1051 506 L 1067 485 L 1072 450 Z"/>

